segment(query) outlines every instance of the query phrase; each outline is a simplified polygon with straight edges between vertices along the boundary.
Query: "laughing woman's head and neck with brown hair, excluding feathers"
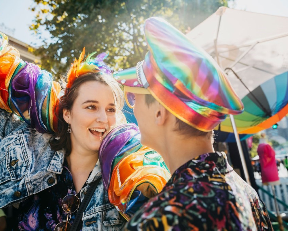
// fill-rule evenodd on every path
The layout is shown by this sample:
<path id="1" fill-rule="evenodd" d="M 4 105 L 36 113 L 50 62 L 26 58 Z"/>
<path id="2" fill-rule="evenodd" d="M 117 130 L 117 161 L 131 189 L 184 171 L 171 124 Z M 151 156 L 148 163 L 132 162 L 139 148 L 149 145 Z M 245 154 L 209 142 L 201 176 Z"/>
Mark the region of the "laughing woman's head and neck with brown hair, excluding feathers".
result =
<path id="1" fill-rule="evenodd" d="M 123 94 L 111 75 L 100 72 L 80 75 L 66 92 L 59 103 L 59 133 L 54 134 L 50 146 L 66 150 L 78 193 L 99 159 L 102 139 L 115 127 Z M 120 102 L 114 102 L 115 98 Z M 71 133 L 67 133 L 68 127 Z"/>

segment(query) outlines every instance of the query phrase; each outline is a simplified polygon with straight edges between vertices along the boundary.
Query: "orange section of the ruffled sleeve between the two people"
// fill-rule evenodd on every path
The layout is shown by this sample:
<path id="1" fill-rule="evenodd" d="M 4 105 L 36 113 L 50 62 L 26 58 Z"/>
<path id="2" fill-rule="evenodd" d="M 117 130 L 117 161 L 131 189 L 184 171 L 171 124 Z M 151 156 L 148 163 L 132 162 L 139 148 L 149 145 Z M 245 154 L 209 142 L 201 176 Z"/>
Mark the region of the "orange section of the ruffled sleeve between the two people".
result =
<path id="1" fill-rule="evenodd" d="M 157 155 L 150 148 L 143 146 L 137 152 L 124 157 L 113 169 L 108 188 L 109 201 L 118 207 L 118 210 L 126 211 L 127 202 L 135 190 L 141 191 L 146 198 L 152 198 L 160 193 L 166 182 L 170 179 L 170 173 L 158 165 L 145 165 L 144 159 L 150 159 L 150 155 Z M 153 160 L 155 161 L 155 160 Z M 127 220 L 130 216 L 122 213 Z"/>

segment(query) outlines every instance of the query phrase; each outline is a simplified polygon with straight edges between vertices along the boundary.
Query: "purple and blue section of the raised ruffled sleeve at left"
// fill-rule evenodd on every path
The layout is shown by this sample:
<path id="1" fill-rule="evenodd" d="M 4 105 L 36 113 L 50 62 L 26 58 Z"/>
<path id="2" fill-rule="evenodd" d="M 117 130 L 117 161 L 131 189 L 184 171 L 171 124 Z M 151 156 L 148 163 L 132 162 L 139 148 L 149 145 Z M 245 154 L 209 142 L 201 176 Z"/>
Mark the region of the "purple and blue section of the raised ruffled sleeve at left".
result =
<path id="1" fill-rule="evenodd" d="M 49 104 L 44 102 L 52 81 L 51 73 L 28 62 L 11 81 L 10 100 L 17 110 L 14 113 L 40 133 L 51 132 L 46 118 Z"/>

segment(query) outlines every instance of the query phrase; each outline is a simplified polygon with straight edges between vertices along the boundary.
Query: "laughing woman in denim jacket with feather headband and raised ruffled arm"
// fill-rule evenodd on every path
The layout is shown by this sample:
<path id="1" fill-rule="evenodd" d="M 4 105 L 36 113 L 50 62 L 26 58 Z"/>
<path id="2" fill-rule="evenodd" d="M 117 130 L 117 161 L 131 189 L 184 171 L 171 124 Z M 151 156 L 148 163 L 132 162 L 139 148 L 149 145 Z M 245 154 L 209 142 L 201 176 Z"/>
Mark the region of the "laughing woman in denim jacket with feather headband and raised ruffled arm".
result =
<path id="1" fill-rule="evenodd" d="M 8 83 L 1 83 L 8 95 L 2 90 L 0 102 L 26 122 L 0 111 L 1 150 L 6 150 L 1 154 L 11 158 L 0 158 L 2 168 L 9 163 L 0 191 L 12 191 L 0 207 L 20 201 L 13 216 L 16 230 L 69 230 L 90 185 L 95 185 L 83 210 L 89 216 L 78 213 L 76 230 L 120 230 L 124 218 L 109 203 L 98 160 L 101 142 L 120 121 L 123 107 L 122 90 L 103 62 L 106 54 L 92 53 L 83 61 L 84 49 L 67 83 L 63 79 L 64 94 L 59 97 L 61 87 L 51 74 L 22 62 L 0 35 L 0 73 Z M 13 182 L 12 172 L 17 175 Z"/>

